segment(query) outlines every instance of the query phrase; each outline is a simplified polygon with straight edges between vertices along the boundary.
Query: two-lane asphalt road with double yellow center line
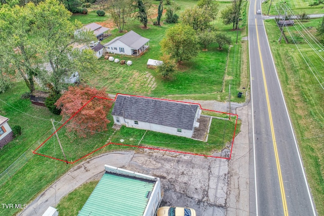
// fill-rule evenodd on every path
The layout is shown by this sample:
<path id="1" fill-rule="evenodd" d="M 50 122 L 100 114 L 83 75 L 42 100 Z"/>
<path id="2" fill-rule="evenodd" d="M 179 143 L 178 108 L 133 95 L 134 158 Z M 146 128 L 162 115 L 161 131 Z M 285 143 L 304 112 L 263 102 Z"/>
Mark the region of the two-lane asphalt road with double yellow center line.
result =
<path id="1" fill-rule="evenodd" d="M 249 9 L 251 72 L 251 215 L 316 215 L 272 60 L 260 0 Z M 256 184 L 255 184 L 256 178 Z"/>

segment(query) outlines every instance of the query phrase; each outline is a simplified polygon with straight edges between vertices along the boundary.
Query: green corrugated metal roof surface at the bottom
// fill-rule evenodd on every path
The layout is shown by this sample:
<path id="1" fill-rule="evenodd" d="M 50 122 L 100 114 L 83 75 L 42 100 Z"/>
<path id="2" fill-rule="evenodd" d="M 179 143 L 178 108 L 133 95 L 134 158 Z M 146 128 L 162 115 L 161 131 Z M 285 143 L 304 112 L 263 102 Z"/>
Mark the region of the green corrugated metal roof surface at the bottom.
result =
<path id="1" fill-rule="evenodd" d="M 78 216 L 143 215 L 154 184 L 106 172 Z"/>

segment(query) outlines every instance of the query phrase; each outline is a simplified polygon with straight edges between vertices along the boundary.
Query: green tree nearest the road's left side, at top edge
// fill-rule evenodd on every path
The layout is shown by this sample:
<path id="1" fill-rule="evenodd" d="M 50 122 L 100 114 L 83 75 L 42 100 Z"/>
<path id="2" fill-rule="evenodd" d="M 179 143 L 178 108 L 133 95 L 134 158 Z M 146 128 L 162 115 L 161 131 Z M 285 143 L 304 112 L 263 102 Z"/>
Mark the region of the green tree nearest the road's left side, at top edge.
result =
<path id="1" fill-rule="evenodd" d="M 232 4 L 221 12 L 221 18 L 225 25 L 233 24 L 233 29 L 238 28 L 238 22 L 241 17 L 242 0 L 233 0 Z"/>

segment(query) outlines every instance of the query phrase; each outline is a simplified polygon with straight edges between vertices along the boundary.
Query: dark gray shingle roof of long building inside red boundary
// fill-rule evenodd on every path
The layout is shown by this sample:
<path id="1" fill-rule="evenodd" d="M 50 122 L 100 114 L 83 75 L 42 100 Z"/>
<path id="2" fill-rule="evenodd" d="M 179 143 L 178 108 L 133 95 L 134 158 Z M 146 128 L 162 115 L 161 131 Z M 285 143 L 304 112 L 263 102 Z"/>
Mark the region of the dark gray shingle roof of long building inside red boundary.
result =
<path id="1" fill-rule="evenodd" d="M 191 130 L 198 108 L 196 104 L 117 95 L 111 114 Z"/>

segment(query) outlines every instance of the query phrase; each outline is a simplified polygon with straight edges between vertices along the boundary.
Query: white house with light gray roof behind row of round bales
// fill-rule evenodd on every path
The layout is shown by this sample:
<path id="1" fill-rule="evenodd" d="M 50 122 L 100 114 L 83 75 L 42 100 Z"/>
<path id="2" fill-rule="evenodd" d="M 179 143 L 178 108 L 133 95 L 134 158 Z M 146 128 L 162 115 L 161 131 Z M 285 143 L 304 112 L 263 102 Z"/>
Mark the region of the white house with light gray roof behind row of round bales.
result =
<path id="1" fill-rule="evenodd" d="M 149 40 L 131 30 L 123 36 L 115 37 L 104 46 L 108 53 L 140 56 L 149 47 Z"/>

